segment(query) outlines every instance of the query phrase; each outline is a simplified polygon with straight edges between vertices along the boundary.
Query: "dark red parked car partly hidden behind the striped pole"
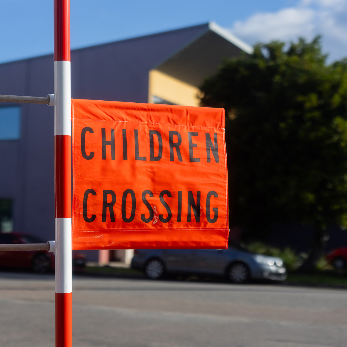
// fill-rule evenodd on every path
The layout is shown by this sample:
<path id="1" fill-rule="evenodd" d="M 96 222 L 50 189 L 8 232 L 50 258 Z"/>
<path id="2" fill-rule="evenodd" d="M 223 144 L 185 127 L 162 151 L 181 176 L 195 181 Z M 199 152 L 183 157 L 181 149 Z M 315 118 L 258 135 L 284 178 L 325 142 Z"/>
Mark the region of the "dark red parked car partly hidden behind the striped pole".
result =
<path id="1" fill-rule="evenodd" d="M 46 243 L 34 235 L 19 232 L 0 233 L 0 244 Z M 78 251 L 72 253 L 73 270 L 85 268 L 85 255 Z M 54 253 L 47 251 L 0 251 L 0 267 L 32 269 L 36 273 L 54 270 Z"/>

